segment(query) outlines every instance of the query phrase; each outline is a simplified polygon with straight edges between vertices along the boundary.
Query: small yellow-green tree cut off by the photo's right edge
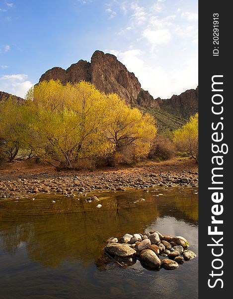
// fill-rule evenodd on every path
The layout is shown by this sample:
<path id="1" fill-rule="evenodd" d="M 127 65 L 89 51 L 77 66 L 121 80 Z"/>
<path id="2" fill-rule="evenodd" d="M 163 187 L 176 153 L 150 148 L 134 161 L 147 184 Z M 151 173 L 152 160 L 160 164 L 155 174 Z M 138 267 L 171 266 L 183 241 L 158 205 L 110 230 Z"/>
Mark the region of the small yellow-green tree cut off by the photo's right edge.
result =
<path id="1" fill-rule="evenodd" d="M 198 113 L 180 129 L 174 131 L 173 141 L 177 149 L 188 153 L 198 162 Z"/>

